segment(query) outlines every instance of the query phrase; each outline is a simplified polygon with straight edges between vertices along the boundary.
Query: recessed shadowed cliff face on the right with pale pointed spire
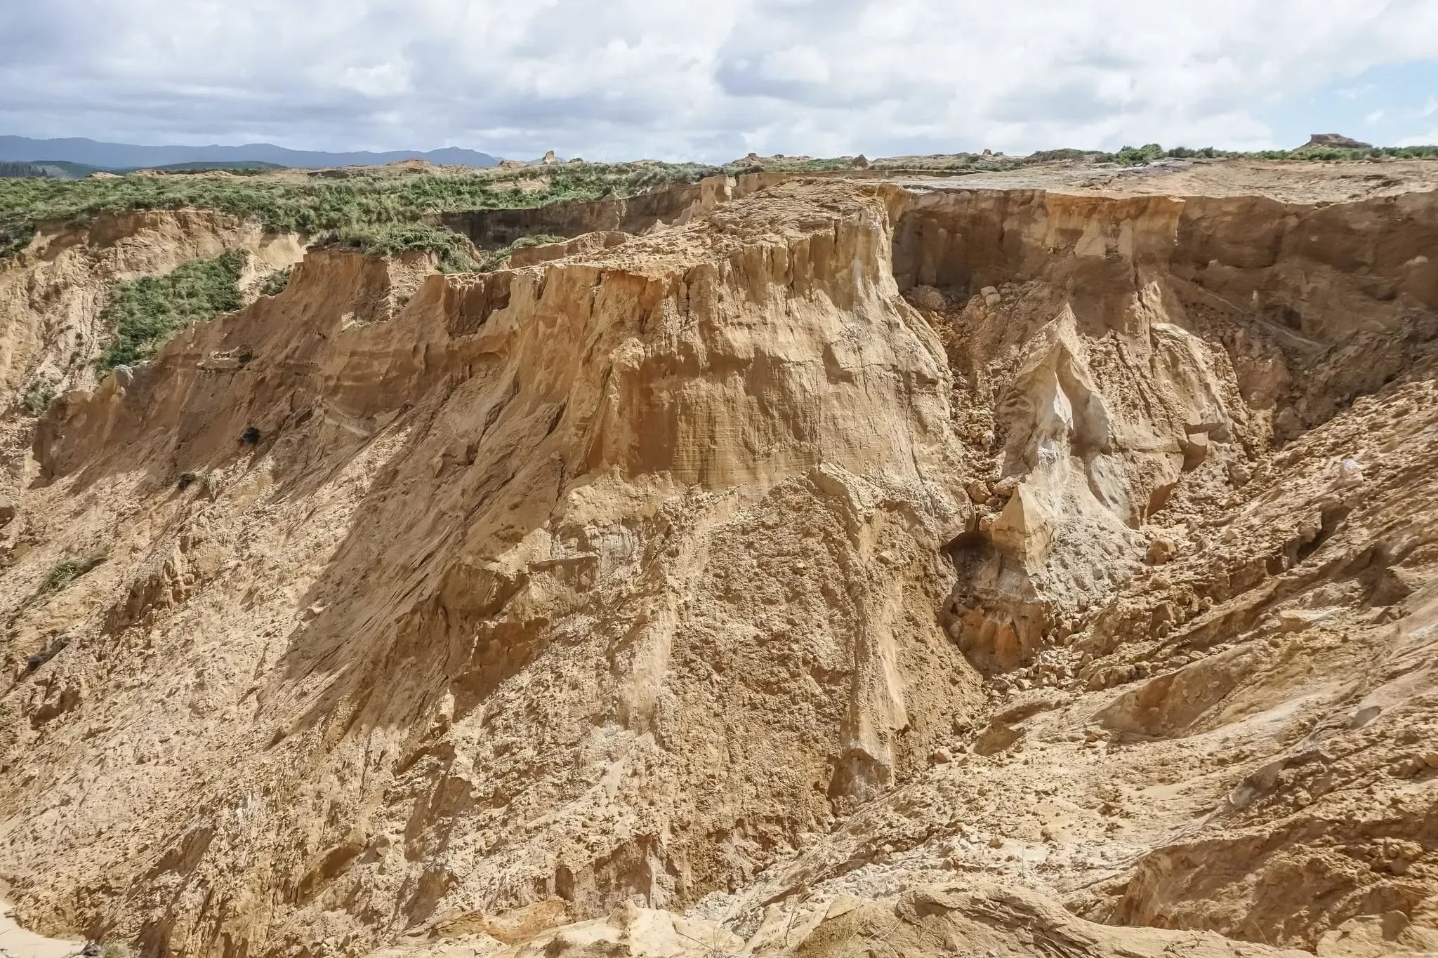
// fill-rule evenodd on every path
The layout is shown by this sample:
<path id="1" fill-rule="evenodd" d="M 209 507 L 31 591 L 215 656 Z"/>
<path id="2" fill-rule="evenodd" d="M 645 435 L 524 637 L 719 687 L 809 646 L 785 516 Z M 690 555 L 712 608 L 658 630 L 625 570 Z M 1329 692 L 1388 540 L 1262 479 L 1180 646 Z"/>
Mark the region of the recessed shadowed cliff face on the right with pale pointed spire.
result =
<path id="1" fill-rule="evenodd" d="M 968 465 L 997 460 L 1002 493 L 955 546 L 971 658 L 1031 659 L 1044 631 L 1126 585 L 1146 544 L 1133 530 L 1182 477 L 1185 500 L 1221 496 L 1229 467 L 1408 372 L 1402 343 L 1434 333 L 1435 240 L 1431 194 L 916 197 L 894 271 L 953 300 Z"/>

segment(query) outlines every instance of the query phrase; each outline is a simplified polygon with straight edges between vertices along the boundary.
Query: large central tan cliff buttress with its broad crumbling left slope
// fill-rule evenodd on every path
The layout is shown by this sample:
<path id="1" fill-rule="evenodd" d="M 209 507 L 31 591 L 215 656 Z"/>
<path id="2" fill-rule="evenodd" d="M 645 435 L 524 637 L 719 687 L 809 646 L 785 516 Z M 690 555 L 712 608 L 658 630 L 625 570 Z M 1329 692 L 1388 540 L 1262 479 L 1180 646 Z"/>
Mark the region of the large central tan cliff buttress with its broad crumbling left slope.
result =
<path id="1" fill-rule="evenodd" d="M 7 697 L 7 753 L 37 770 L 16 799 L 65 774 L 42 743 L 75 767 L 127 750 L 56 733 L 168 698 L 121 691 L 145 675 L 125 651 L 158 643 L 165 771 L 115 774 L 206 852 L 132 879 L 193 896 L 125 929 L 152 947 L 308 938 L 296 913 L 336 911 L 397 931 L 440 901 L 683 903 L 825 830 L 978 701 L 936 618 L 965 521 L 948 371 L 887 270 L 889 215 L 847 190 L 739 204 L 594 263 L 431 276 L 393 316 L 367 310 L 384 264 L 316 253 L 65 396 L 37 494 L 165 504 L 121 533 L 134 570 L 58 599 L 115 595 Z M 42 827 L 10 849 L 40 853 Z M 111 849 L 93 873 L 134 868 Z"/>

